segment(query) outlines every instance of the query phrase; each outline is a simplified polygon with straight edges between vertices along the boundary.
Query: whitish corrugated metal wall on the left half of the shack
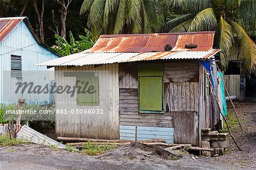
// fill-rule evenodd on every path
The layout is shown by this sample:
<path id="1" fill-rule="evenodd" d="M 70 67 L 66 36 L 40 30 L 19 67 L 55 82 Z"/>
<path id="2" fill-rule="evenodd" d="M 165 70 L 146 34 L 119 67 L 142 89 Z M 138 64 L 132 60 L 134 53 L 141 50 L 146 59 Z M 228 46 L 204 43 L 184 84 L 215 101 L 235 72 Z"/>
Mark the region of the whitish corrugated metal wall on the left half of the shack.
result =
<path id="1" fill-rule="evenodd" d="M 67 93 L 56 94 L 56 109 L 72 111 L 72 109 L 102 109 L 104 114 L 56 114 L 57 136 L 85 137 L 95 139 L 119 138 L 119 89 L 118 64 L 106 64 L 100 67 L 86 65 L 83 67 L 55 68 L 56 85 L 74 86 L 76 77 L 64 77 L 65 71 L 89 71 L 98 76 L 98 106 L 77 105 L 76 94 L 71 97 Z"/>

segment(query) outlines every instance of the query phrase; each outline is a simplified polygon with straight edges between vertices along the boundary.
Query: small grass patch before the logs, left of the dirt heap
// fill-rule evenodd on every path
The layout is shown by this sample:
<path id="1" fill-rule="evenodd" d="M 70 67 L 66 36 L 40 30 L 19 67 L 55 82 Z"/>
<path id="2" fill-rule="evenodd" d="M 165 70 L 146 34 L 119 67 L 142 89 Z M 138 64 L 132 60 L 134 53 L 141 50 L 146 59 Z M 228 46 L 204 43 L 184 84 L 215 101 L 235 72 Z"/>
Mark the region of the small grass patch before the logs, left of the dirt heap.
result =
<path id="1" fill-rule="evenodd" d="M 104 145 L 97 145 L 92 142 L 87 142 L 84 146 L 82 146 L 82 152 L 86 155 L 100 155 L 108 151 L 114 150 L 114 145 L 104 144 Z"/>

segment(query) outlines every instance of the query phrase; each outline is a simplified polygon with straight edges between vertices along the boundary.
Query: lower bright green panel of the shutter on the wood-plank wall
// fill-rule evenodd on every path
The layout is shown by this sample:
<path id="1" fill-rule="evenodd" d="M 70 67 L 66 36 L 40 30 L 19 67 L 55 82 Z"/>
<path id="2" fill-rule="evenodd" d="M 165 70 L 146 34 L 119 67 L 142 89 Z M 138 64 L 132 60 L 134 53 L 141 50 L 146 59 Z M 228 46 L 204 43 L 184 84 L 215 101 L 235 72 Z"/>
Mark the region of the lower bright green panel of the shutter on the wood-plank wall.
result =
<path id="1" fill-rule="evenodd" d="M 139 77 L 139 110 L 163 110 L 163 77 Z"/>

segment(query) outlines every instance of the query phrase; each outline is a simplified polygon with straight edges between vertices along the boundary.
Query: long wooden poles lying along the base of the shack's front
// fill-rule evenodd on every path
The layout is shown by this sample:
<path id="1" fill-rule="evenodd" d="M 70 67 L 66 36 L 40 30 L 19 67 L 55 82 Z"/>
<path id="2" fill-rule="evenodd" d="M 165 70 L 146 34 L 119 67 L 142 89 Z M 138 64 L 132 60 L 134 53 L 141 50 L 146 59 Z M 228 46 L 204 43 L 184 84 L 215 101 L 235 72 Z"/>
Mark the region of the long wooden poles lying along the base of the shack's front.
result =
<path id="1" fill-rule="evenodd" d="M 74 146 L 76 148 L 81 148 L 87 142 L 92 142 L 97 145 L 113 144 L 115 146 L 126 146 L 127 144 L 134 142 L 134 140 L 123 140 L 123 139 L 108 140 L 108 139 L 89 139 L 89 138 L 68 138 L 68 137 L 60 137 L 60 136 L 57 137 L 57 140 L 62 142 L 68 142 L 66 143 L 67 145 Z M 192 147 L 191 144 L 166 143 L 164 139 L 152 139 L 152 140 L 144 140 L 144 141 L 137 141 L 137 142 L 142 144 L 148 144 L 148 145 L 156 145 L 164 148 L 169 147 L 171 150 L 178 150 L 186 147 L 190 151 L 210 151 L 210 152 L 213 151 L 210 148 Z"/>

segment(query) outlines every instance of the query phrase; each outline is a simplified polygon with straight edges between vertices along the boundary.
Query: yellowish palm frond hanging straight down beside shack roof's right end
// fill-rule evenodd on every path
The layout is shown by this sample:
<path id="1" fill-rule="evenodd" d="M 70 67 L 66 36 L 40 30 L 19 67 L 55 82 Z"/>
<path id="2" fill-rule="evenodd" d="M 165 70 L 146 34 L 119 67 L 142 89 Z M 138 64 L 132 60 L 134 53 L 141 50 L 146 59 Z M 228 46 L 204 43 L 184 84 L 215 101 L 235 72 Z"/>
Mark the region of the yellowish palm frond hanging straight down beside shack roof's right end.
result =
<path id="1" fill-rule="evenodd" d="M 221 16 L 220 23 L 218 24 L 218 43 L 220 45 L 221 53 L 221 65 L 226 69 L 229 63 L 230 49 L 232 48 L 233 30 L 232 27 Z"/>

